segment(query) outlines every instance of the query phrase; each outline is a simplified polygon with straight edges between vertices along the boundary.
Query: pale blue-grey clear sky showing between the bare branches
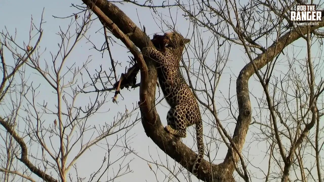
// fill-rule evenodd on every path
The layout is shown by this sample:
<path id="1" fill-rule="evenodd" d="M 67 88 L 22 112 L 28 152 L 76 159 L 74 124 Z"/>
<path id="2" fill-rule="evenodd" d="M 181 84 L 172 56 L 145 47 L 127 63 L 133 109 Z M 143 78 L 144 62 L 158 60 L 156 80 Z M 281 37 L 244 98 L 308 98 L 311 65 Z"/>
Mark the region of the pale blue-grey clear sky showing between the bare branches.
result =
<path id="1" fill-rule="evenodd" d="M 139 3 L 143 3 L 144 1 L 138 1 Z M 240 3 L 245 3 L 245 1 L 240 1 Z M 35 0 L 35 1 L 9 1 L 9 0 L 2 0 L 0 1 L 0 28 L 6 29 L 10 33 L 14 33 L 15 29 L 17 29 L 17 43 L 19 45 L 22 45 L 23 42 L 26 42 L 29 40 L 29 27 L 30 27 L 30 20 L 31 16 L 33 18 L 33 22 L 38 25 L 41 21 L 41 14 L 44 8 L 44 15 L 43 20 L 46 22 L 42 25 L 43 29 L 43 37 L 41 39 L 41 50 L 44 51 L 42 54 L 42 57 L 40 61 L 42 61 L 43 66 L 44 63 L 51 63 L 51 55 L 50 51 L 53 53 L 56 53 L 58 50 L 57 44 L 61 41 L 60 37 L 56 35 L 56 33 L 59 31 L 60 26 L 63 30 L 66 29 L 67 25 L 71 21 L 70 19 L 61 19 L 61 18 L 55 18 L 55 17 L 66 17 L 70 16 L 73 13 L 77 12 L 77 9 L 75 7 L 70 7 L 71 4 L 75 5 L 81 5 L 80 0 L 72 0 L 72 1 L 64 1 L 64 0 L 58 0 L 58 1 L 41 1 L 41 0 Z M 167 26 L 165 24 L 160 23 L 159 18 L 156 18 L 157 16 L 153 13 L 152 10 L 144 7 L 135 6 L 133 4 L 127 4 L 124 5 L 117 4 L 118 7 L 123 10 L 126 15 L 128 15 L 135 24 L 138 26 L 141 25 L 145 26 L 146 33 L 152 38 L 154 33 L 160 33 L 162 31 L 167 31 Z M 170 21 L 169 17 L 169 10 L 168 8 L 165 9 L 157 9 L 160 14 L 170 23 L 172 24 L 172 21 Z M 191 33 L 193 31 L 192 26 L 188 20 L 185 20 L 182 16 L 182 12 L 180 10 L 177 11 L 177 8 L 171 8 L 170 10 L 172 17 L 177 17 L 176 21 L 176 29 L 183 35 L 186 35 L 188 38 L 191 38 Z M 55 17 L 53 17 L 55 16 Z M 92 18 L 95 18 L 96 16 L 93 15 Z M 102 30 L 98 31 L 101 28 L 101 24 L 98 20 L 93 22 L 90 30 L 87 32 L 87 35 L 90 36 L 90 40 L 98 47 L 100 48 L 101 45 L 104 42 L 104 36 L 102 34 Z M 74 28 L 72 28 L 72 31 Z M 204 40 L 205 45 L 207 44 L 209 38 L 212 36 L 210 32 L 202 32 L 202 38 Z M 118 61 L 121 63 L 121 65 L 118 65 L 116 67 L 117 69 L 117 75 L 120 75 L 124 72 L 125 67 L 128 67 L 128 63 L 126 61 L 129 60 L 127 56 L 131 56 L 129 52 L 125 48 L 123 48 L 123 45 L 119 45 L 120 41 L 117 43 L 114 43 L 113 46 L 110 45 L 111 52 L 113 59 L 115 61 Z M 271 44 L 271 43 L 268 43 Z M 302 41 L 296 41 L 294 42 L 295 45 L 302 44 L 305 45 L 305 42 Z M 46 48 L 46 50 L 45 50 Z M 86 62 L 88 56 L 91 56 L 90 59 L 92 59 L 92 62 L 87 65 L 87 69 L 91 74 L 95 73 L 95 70 L 100 69 L 100 65 L 102 65 L 102 68 L 105 69 L 107 72 L 109 72 L 110 65 L 110 59 L 109 54 L 106 51 L 102 55 L 94 50 L 91 49 L 92 44 L 89 43 L 86 39 L 81 40 L 75 49 L 73 50 L 72 54 L 67 59 L 67 62 L 65 64 L 65 67 L 75 64 L 75 66 L 81 66 L 83 63 Z M 193 44 L 190 43 L 189 48 L 192 50 Z M 314 56 L 318 57 L 318 47 L 314 48 Z M 225 50 L 228 51 L 228 50 Z M 299 52 L 300 51 L 300 52 Z M 285 54 L 288 56 L 291 55 L 294 52 L 299 52 L 299 55 L 297 56 L 299 59 L 303 59 L 306 56 L 306 49 L 303 49 L 302 47 L 295 47 L 294 49 L 292 47 L 285 50 Z M 237 45 L 232 45 L 232 48 L 229 52 L 226 52 L 229 54 L 228 57 L 228 63 L 226 64 L 226 68 L 224 70 L 224 73 L 222 75 L 221 82 L 218 86 L 218 91 L 216 92 L 218 100 L 217 100 L 217 109 L 219 109 L 219 118 L 221 120 L 224 120 L 223 126 L 226 126 L 228 131 L 230 133 L 233 133 L 234 127 L 235 127 L 235 120 L 234 119 L 228 119 L 229 118 L 229 111 L 225 107 L 228 105 L 226 103 L 226 100 L 224 97 L 228 98 L 228 94 L 230 95 L 231 101 L 233 102 L 234 108 L 237 108 L 237 101 L 236 101 L 236 77 L 239 74 L 240 70 L 243 68 L 243 66 L 249 62 L 248 57 L 245 55 L 244 50 L 242 47 L 239 47 Z M 10 54 L 6 54 L 7 56 L 7 62 L 10 62 Z M 210 51 L 206 57 L 206 64 L 213 65 L 215 62 L 214 57 L 214 51 Z M 281 57 L 280 62 L 282 63 L 282 67 L 277 68 L 277 75 L 285 74 L 288 72 L 288 63 L 285 62 L 286 57 Z M 11 60 L 12 61 L 12 60 Z M 318 61 L 322 61 L 321 59 Z M 199 63 L 193 64 L 195 69 L 198 69 Z M 323 66 L 323 65 L 322 65 Z M 83 72 L 86 74 L 86 72 Z M 281 73 L 281 74 L 280 74 Z M 34 70 L 28 69 L 26 72 L 28 79 L 28 83 L 33 82 L 34 85 L 40 85 L 38 90 L 38 96 L 36 100 L 38 102 L 48 102 L 49 108 L 55 108 L 56 99 L 55 94 L 53 93 L 53 89 L 49 86 L 48 83 L 39 75 L 35 74 Z M 323 76 L 323 73 L 322 73 Z M 138 80 L 139 80 L 138 75 Z M 66 79 L 70 79 L 70 77 L 66 77 Z M 85 76 L 85 79 L 88 80 L 88 77 Z M 230 79 L 232 80 L 230 89 L 229 89 L 229 82 Z M 253 95 L 258 98 L 251 97 L 251 103 L 252 103 L 252 109 L 253 112 L 257 110 L 257 102 L 260 97 L 263 95 L 263 90 L 260 87 L 260 84 L 258 82 L 255 82 L 253 80 L 256 80 L 255 78 L 250 79 L 250 85 L 249 89 L 250 92 L 253 92 Z M 192 80 L 195 82 L 195 80 Z M 77 82 L 78 83 L 78 82 Z M 199 83 L 198 85 L 201 85 L 202 83 Z M 229 92 L 230 90 L 230 92 Z M 158 92 L 158 89 L 157 89 Z M 229 93 L 228 93 L 229 92 Z M 118 104 L 111 102 L 111 97 L 114 96 L 114 93 L 108 93 L 107 99 L 108 102 L 105 103 L 104 107 L 101 108 L 99 111 L 100 113 L 95 114 L 93 117 L 88 119 L 88 126 L 96 126 L 103 125 L 106 123 L 111 123 L 113 121 L 113 117 L 117 116 L 116 113 L 121 112 L 124 113 L 125 106 L 128 110 L 132 110 L 133 105 L 136 105 L 139 101 L 139 89 L 130 89 L 129 91 L 126 89 L 121 90 L 121 96 L 118 97 Z M 156 95 L 158 97 L 158 95 Z M 89 104 L 89 99 L 93 100 L 95 98 L 94 94 L 81 94 L 79 96 L 78 100 L 76 101 L 77 106 L 84 107 Z M 161 96 L 157 98 L 158 100 L 161 100 Z M 103 99 L 103 96 L 100 97 L 100 99 Z M 6 101 L 9 103 L 10 99 L 6 98 Z M 26 103 L 25 103 L 26 104 Z M 224 107 L 224 108 L 223 108 Z M 104 110 L 110 110 L 109 112 L 103 112 Z M 157 105 L 158 113 L 160 114 L 160 118 L 163 122 L 163 125 L 166 125 L 166 113 L 168 111 L 168 106 L 166 102 L 163 100 L 160 104 Z M 201 108 L 202 110 L 202 108 Z M 0 110 L 1 112 L 6 112 L 6 108 Z M 139 110 L 136 110 L 135 115 L 139 113 Z M 22 116 L 25 115 L 25 113 L 21 113 Z M 237 114 L 236 114 L 237 115 Z M 207 115 L 203 116 L 203 120 L 205 122 L 208 122 Z M 266 122 L 267 120 L 265 117 L 267 115 L 263 115 L 263 122 Z M 53 115 L 44 114 L 42 116 L 42 119 L 45 121 L 45 123 L 48 122 L 48 124 L 52 124 L 52 121 L 55 119 Z M 135 117 L 132 117 L 131 120 L 135 119 Z M 206 123 L 204 123 L 204 134 L 211 137 L 211 128 L 207 126 Z M 23 121 L 20 124 L 20 129 L 24 127 Z M 260 126 L 255 126 L 260 127 Z M 249 170 L 251 170 L 254 175 L 260 175 L 259 177 L 263 177 L 263 174 L 260 172 L 260 169 L 267 169 L 268 164 L 268 157 L 264 156 L 264 152 L 267 151 L 268 144 L 266 142 L 258 142 L 253 141 L 251 142 L 250 139 L 252 137 L 255 137 L 257 132 L 260 132 L 258 128 L 250 127 L 248 136 L 246 138 L 246 144 L 244 147 L 243 154 L 249 153 L 245 157 L 248 158 L 248 160 L 251 162 L 249 165 Z M 191 127 L 189 129 L 192 133 L 193 128 Z M 214 133 L 217 132 L 216 129 L 213 129 Z M 3 132 L 3 131 L 0 131 Z M 91 133 L 89 132 L 86 134 L 86 137 L 91 137 Z M 97 134 L 97 133 L 95 133 Z M 123 131 L 121 131 L 118 136 L 122 135 Z M 193 133 L 195 136 L 195 133 Z M 132 128 L 129 133 L 127 133 L 127 136 L 132 137 L 131 142 L 129 142 L 129 146 L 134 149 L 134 151 L 137 153 L 138 156 L 148 160 L 148 161 L 157 161 L 158 163 L 162 163 L 164 165 L 167 164 L 166 162 L 166 154 L 163 153 L 159 148 L 156 147 L 156 145 L 152 142 L 150 138 L 148 138 L 144 132 L 144 129 L 142 127 L 141 122 L 137 122 L 137 124 Z M 114 143 L 116 140 L 117 135 L 112 135 L 107 138 L 107 141 L 110 145 Z M 216 136 L 216 138 L 219 139 L 219 135 Z M 209 138 L 206 137 L 207 141 L 210 141 Z M 54 146 L 59 144 L 59 140 L 54 140 Z M 57 143 L 55 143 L 57 142 Z M 79 158 L 79 160 L 76 162 L 78 175 L 79 177 L 89 177 L 91 173 L 95 172 L 99 166 L 101 165 L 101 161 L 103 160 L 103 156 L 105 153 L 107 153 L 107 148 L 105 148 L 105 140 L 102 141 L 100 146 L 94 146 L 91 148 L 91 150 L 88 150 L 86 153 L 82 155 L 82 157 Z M 186 143 L 189 146 L 193 146 L 196 150 L 196 143 L 193 142 L 193 139 L 191 137 L 191 134 L 187 135 L 187 138 L 183 139 L 183 142 Z M 219 142 L 217 142 L 219 143 Z M 121 141 L 118 142 L 119 145 L 122 145 Z M 212 149 L 215 148 L 215 143 L 209 144 Z M 220 148 L 218 149 L 218 152 L 216 153 L 215 150 L 212 152 L 212 158 L 215 157 L 214 163 L 220 162 L 227 152 L 227 148 L 225 145 L 220 145 Z M 114 148 L 112 150 L 111 156 L 120 156 L 120 150 L 121 148 Z M 33 144 L 30 148 L 30 154 L 33 155 L 40 155 L 40 149 L 36 144 Z M 217 155 L 216 155 L 217 154 Z M 73 155 L 73 154 L 72 154 Z M 155 175 L 153 172 L 150 171 L 147 162 L 141 159 L 134 154 L 130 154 L 127 157 L 126 161 L 129 161 L 130 159 L 134 160 L 130 163 L 130 168 L 133 170 L 133 173 L 127 174 L 125 176 L 122 176 L 121 178 L 118 178 L 117 181 L 129 181 L 134 180 L 135 181 L 156 181 Z M 205 156 L 206 158 L 206 156 Z M 168 159 L 171 159 L 168 157 Z M 313 160 L 314 158 L 312 158 Z M 69 159 L 71 160 L 71 159 Z M 171 159 L 169 161 L 169 165 L 171 165 L 170 168 L 174 165 L 174 161 Z M 253 166 L 252 166 L 253 164 Z M 118 168 L 118 164 L 114 165 L 116 169 Z M 179 165 L 178 165 L 179 166 Z M 153 169 L 156 169 L 155 165 L 152 165 Z M 258 169 L 260 168 L 260 169 Z M 115 169 L 115 170 L 116 170 Z M 166 170 L 163 170 L 166 172 Z M 112 169 L 110 170 L 112 173 Z M 75 174 L 74 170 L 71 170 L 71 174 Z M 164 180 L 164 175 L 161 172 L 158 172 L 158 181 Z M 179 177 L 180 181 L 184 181 L 183 176 Z M 255 181 L 258 181 L 254 178 Z M 166 180 L 167 181 L 167 180 Z M 195 177 L 193 177 L 192 181 L 197 181 Z"/>

